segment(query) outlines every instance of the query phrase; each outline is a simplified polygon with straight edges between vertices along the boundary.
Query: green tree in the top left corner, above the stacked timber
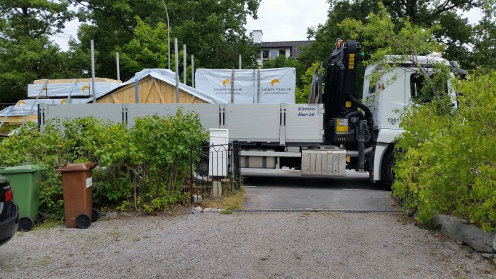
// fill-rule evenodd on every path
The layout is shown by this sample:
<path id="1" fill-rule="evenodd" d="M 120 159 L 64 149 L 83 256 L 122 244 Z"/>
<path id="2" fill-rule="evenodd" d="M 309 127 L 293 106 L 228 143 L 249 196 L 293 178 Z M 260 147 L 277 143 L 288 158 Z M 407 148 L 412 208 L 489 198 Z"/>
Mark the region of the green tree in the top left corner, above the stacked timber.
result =
<path id="1" fill-rule="evenodd" d="M 26 98 L 34 79 L 77 77 L 69 53 L 48 39 L 74 14 L 64 0 L 0 0 L 0 102 Z"/>

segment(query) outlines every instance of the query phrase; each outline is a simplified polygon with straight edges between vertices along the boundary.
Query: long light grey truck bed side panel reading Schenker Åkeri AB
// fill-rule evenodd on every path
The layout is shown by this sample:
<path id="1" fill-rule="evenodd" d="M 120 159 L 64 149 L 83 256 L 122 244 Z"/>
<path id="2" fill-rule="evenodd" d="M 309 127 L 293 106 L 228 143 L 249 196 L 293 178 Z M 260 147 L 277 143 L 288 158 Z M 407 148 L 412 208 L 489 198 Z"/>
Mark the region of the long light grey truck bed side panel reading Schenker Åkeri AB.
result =
<path id="1" fill-rule="evenodd" d="M 192 111 L 200 115 L 206 131 L 229 129 L 230 141 L 271 142 L 273 144 L 321 143 L 323 106 L 307 104 L 63 104 L 40 105 L 40 130 L 45 118 L 64 119 L 94 116 L 114 123 L 135 125 L 145 115 L 174 115 Z"/>

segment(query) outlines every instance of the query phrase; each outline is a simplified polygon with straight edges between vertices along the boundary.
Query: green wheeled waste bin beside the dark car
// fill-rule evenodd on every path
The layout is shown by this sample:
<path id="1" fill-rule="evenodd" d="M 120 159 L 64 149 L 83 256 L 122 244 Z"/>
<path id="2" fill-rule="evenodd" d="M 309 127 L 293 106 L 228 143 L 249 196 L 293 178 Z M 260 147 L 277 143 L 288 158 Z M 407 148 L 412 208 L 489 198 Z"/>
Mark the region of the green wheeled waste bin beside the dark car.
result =
<path id="1" fill-rule="evenodd" d="M 38 165 L 11 166 L 0 168 L 0 174 L 9 179 L 14 193 L 14 200 L 19 208 L 19 229 L 28 232 L 33 229 L 35 221 L 43 222 L 45 215 L 38 212 L 40 206 L 41 171 L 46 169 Z"/>

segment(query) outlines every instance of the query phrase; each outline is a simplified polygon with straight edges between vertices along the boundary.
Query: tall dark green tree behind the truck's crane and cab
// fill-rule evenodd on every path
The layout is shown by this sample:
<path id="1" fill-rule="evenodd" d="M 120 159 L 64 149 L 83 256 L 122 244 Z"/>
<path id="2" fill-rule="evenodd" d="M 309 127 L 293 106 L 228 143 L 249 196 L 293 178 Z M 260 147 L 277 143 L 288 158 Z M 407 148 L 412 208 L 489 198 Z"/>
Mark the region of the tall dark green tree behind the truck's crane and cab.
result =
<path id="1" fill-rule="evenodd" d="M 315 42 L 300 55 L 300 62 L 308 67 L 314 61 L 325 61 L 332 51 L 336 38 L 344 38 L 346 31 L 338 24 L 346 18 L 367 21 L 368 13 L 378 12 L 380 0 L 329 0 L 327 22 L 317 27 Z M 473 26 L 460 15 L 461 11 L 472 8 L 483 8 L 492 11 L 483 0 L 384 0 L 382 1 L 396 30 L 401 26 L 401 19 L 409 18 L 410 22 L 420 27 L 430 28 L 441 25 L 434 31 L 434 39 L 446 45 L 446 59 L 461 60 L 463 67 L 473 67 L 471 46 L 478 42 L 473 36 Z M 349 34 L 348 34 L 349 35 Z M 360 40 L 361 38 L 359 38 Z M 372 49 L 369 51 L 373 51 Z"/>

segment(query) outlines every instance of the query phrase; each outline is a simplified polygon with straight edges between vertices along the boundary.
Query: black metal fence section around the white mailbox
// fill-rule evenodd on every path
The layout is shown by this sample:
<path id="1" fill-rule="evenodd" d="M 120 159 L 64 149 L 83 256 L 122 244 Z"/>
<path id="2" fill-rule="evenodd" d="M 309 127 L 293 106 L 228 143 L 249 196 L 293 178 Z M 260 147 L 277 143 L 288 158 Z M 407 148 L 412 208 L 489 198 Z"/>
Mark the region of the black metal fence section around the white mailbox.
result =
<path id="1" fill-rule="evenodd" d="M 202 145 L 201 155 L 191 151 L 191 203 L 198 197 L 215 198 L 241 188 L 239 144 Z"/>

